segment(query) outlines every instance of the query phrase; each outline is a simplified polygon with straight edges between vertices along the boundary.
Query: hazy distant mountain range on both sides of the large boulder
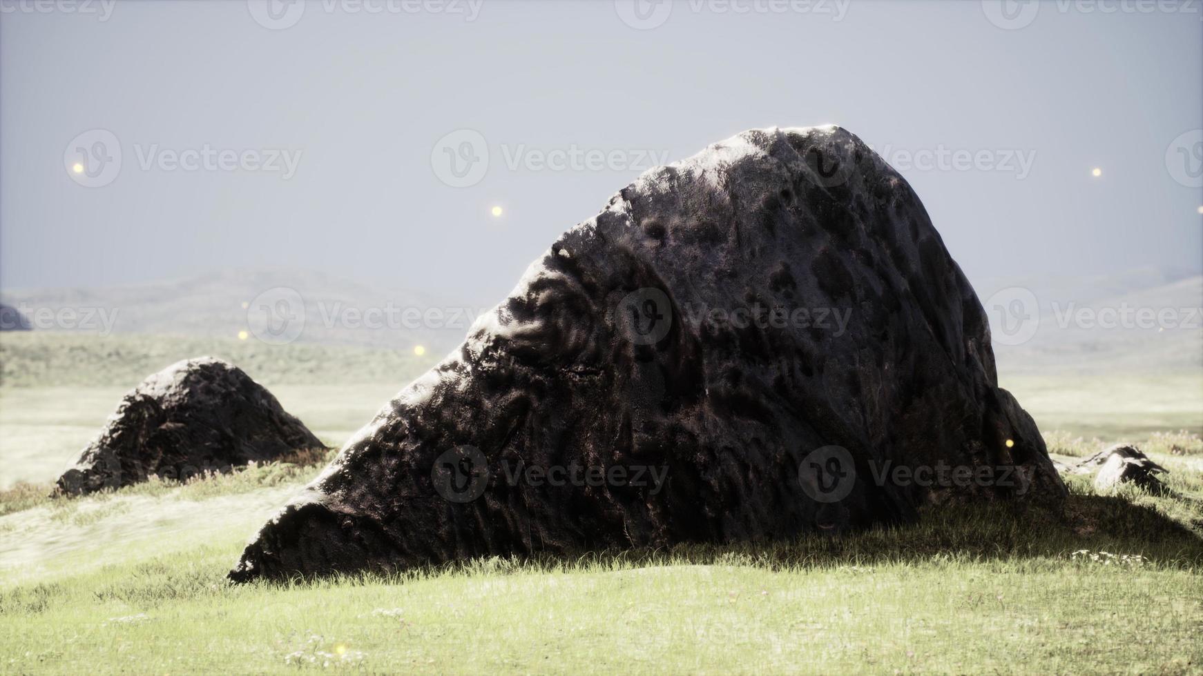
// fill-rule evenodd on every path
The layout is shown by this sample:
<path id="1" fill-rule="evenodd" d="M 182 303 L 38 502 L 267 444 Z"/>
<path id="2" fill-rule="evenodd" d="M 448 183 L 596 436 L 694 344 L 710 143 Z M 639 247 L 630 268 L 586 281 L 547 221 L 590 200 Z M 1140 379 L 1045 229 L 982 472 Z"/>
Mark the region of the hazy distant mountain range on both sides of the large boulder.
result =
<path id="1" fill-rule="evenodd" d="M 974 285 L 1000 372 L 1203 369 L 1203 276 L 1140 268 Z M 224 270 L 107 288 L 4 289 L 34 330 L 452 349 L 487 307 L 313 270 Z M 500 300 L 500 299 L 498 299 Z M 65 313 L 64 313 L 65 312 Z M 241 336 L 239 336 L 241 337 Z"/>

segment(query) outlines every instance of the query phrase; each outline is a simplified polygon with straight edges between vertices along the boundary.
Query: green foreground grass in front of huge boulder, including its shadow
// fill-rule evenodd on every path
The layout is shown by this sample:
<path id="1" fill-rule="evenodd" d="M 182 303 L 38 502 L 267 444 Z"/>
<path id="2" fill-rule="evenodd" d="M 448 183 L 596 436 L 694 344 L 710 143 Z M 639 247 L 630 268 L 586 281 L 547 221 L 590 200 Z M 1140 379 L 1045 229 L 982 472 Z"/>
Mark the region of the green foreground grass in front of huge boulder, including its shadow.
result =
<path id="1" fill-rule="evenodd" d="M 295 585 L 229 585 L 237 545 L 207 545 L 5 590 L 0 656 L 96 674 L 1198 672 L 1198 536 L 1122 497 L 1068 512 Z"/>

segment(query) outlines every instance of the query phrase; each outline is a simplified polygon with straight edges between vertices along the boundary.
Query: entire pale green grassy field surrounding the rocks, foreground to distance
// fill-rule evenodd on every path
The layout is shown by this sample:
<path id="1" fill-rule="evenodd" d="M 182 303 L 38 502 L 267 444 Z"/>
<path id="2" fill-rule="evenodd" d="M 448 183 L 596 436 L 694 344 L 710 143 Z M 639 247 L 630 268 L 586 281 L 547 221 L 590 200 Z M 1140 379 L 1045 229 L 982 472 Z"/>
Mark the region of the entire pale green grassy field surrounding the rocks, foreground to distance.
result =
<path id="1" fill-rule="evenodd" d="M 1077 475 L 1063 514 L 949 507 L 841 538 L 233 586 L 224 575 L 245 539 L 324 459 L 51 498 L 48 481 L 123 391 L 227 347 L 106 339 L 155 357 L 72 381 L 97 358 L 54 340 L 0 340 L 4 480 L 32 481 L 0 491 L 4 674 L 1203 674 L 1203 407 L 1186 376 L 1003 382 L 1050 450 L 1137 441 L 1171 469 L 1173 496 L 1096 495 Z M 332 444 L 423 366 L 402 354 L 389 369 L 356 366 L 367 357 L 346 348 L 345 364 L 307 375 L 273 367 L 288 364 L 280 348 L 232 346 L 250 352 L 225 355 Z M 262 349 L 277 357 L 239 361 Z M 49 361 L 19 364 L 37 354 Z M 1187 431 L 1151 433 L 1161 429 Z"/>

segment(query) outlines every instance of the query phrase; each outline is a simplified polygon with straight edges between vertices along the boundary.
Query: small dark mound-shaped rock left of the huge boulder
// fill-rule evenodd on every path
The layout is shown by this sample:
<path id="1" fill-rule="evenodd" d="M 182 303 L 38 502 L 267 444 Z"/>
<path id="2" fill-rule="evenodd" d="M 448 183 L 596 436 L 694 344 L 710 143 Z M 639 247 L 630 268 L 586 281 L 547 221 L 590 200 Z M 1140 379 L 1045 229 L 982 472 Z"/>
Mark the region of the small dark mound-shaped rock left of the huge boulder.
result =
<path id="1" fill-rule="evenodd" d="M 87 493 L 152 474 L 188 479 L 321 447 L 242 369 L 202 357 L 173 364 L 130 390 L 58 487 Z"/>

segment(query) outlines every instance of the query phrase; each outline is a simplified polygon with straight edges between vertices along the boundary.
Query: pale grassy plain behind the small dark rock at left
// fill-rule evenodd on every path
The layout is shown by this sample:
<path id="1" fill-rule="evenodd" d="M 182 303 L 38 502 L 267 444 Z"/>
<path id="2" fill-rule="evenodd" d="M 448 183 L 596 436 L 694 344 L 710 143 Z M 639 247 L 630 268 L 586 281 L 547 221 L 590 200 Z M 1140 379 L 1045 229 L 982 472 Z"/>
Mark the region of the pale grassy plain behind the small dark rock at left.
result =
<path id="1" fill-rule="evenodd" d="M 213 355 L 267 387 L 322 442 L 342 445 L 442 354 L 179 336 L 0 335 L 0 489 L 58 477 L 122 395 L 180 359 Z"/>

